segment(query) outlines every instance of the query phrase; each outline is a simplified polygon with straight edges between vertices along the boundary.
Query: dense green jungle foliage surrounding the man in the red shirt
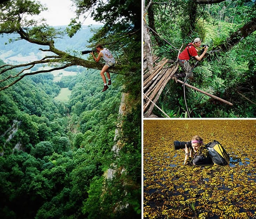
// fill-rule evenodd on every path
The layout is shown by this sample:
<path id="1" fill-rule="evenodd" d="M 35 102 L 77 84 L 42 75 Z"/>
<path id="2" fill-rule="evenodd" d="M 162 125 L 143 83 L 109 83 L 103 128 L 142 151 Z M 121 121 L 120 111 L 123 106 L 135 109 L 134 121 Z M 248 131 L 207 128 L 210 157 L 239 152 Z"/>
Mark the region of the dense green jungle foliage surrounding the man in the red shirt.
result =
<path id="1" fill-rule="evenodd" d="M 156 103 L 169 117 L 256 116 L 255 1 L 214 2 L 146 1 L 152 53 L 176 61 L 182 44 L 183 50 L 200 37 L 209 49 L 193 70 L 195 81 L 187 82 L 233 103 L 226 105 L 186 86 L 183 90 L 181 84 L 171 80 Z M 243 27 L 248 33 L 241 36 Z M 189 62 L 193 66 L 196 60 Z M 153 113 L 165 117 L 157 108 Z"/>

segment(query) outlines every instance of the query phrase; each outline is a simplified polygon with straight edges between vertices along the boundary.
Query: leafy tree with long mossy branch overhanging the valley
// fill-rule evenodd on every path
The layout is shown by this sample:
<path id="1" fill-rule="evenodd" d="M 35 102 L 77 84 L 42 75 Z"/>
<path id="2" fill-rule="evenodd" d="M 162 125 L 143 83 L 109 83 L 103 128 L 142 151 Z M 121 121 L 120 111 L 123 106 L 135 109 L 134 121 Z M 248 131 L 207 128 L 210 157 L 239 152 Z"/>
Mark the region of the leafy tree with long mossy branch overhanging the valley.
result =
<path id="1" fill-rule="evenodd" d="M 93 18 L 105 23 L 103 27 L 95 30 L 96 33 L 90 42 L 92 48 L 95 48 L 97 43 L 101 43 L 102 45 L 109 45 L 109 49 L 114 52 L 117 64 L 109 69 L 109 71 L 121 75 L 130 75 L 132 73 L 135 78 L 139 78 L 141 27 L 137 19 L 139 19 L 140 4 L 133 5 L 132 7 L 132 3 L 132 1 L 109 1 L 107 3 L 104 1 L 88 1 L 86 4 L 84 2 L 81 4 L 81 1 L 74 1 L 74 4 L 77 6 L 78 16 L 83 16 L 92 10 Z M 116 7 L 114 10 L 112 5 Z M 39 49 L 46 53 L 45 57 L 41 60 L 15 66 L 9 64 L 1 66 L 0 74 L 4 75 L 1 82 L 8 81 L 8 83 L 5 86 L 1 86 L 0 89 L 7 88 L 26 75 L 65 69 L 69 66 L 83 66 L 101 70 L 101 64 L 84 60 L 78 57 L 78 53 L 72 55 L 55 47 L 55 40 L 57 38 L 62 37 L 64 34 L 68 34 L 71 37 L 81 28 L 81 23 L 76 22 L 75 18 L 70 22 L 66 30 L 61 30 L 50 27 L 45 23 L 44 19 L 39 21 L 34 19 L 33 16 L 40 14 L 46 9 L 39 2 L 10 0 L 0 4 L 0 9 L 0 34 L 17 33 L 19 37 L 11 39 L 11 42 L 26 40 L 30 43 L 44 46 Z M 111 16 L 109 16 L 110 12 L 112 13 Z M 38 64 L 53 65 L 49 70 L 31 70 L 32 67 Z M 21 69 L 19 73 L 15 75 L 6 74 L 8 70 L 16 68 Z"/>

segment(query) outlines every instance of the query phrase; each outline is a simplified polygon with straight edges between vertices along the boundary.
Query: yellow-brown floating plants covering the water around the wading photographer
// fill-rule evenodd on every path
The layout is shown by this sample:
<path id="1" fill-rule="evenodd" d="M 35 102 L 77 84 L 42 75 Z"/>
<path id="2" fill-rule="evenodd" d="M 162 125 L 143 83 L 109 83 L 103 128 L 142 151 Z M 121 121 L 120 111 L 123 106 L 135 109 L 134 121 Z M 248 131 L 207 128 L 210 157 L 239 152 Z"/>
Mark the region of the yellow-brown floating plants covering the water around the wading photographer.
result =
<path id="1" fill-rule="evenodd" d="M 145 120 L 144 218 L 256 218 L 256 120 Z M 174 141 L 219 141 L 227 166 L 185 166 Z"/>

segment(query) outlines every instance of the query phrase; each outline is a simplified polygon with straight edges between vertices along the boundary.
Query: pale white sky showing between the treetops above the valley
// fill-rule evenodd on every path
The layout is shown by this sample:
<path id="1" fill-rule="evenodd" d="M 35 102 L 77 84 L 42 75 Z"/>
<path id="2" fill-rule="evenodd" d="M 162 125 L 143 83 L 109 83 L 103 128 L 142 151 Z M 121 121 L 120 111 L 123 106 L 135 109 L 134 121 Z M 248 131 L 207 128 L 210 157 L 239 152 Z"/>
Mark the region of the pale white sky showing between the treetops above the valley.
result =
<path id="1" fill-rule="evenodd" d="M 39 0 L 46 5 L 48 10 L 41 13 L 50 26 L 68 25 L 71 18 L 75 17 L 75 8 L 70 0 Z M 97 24 L 88 16 L 83 25 Z"/>

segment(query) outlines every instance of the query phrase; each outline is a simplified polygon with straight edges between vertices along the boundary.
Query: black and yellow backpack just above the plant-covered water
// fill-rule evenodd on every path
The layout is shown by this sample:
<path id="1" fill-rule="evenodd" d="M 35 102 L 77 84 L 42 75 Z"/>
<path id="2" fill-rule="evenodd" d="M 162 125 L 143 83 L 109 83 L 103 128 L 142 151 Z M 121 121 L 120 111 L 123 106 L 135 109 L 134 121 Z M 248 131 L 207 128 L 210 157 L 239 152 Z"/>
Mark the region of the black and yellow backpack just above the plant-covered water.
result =
<path id="1" fill-rule="evenodd" d="M 220 166 L 229 164 L 229 155 L 220 142 L 214 140 L 213 142 L 208 143 L 206 148 L 209 152 L 210 158 L 213 160 L 213 163 Z"/>

